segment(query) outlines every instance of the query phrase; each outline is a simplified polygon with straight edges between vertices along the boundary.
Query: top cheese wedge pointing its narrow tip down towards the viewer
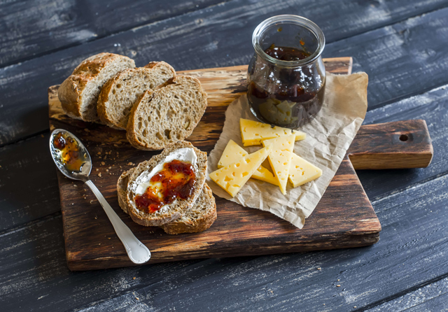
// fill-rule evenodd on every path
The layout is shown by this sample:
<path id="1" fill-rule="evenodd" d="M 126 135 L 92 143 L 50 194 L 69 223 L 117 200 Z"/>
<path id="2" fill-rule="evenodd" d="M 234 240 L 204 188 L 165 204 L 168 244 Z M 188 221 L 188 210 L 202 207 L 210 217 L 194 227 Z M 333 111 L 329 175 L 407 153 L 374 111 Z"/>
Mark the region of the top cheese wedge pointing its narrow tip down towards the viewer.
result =
<path id="1" fill-rule="evenodd" d="M 267 159 L 269 159 L 275 177 L 279 180 L 279 187 L 283 195 L 286 194 L 294 141 L 295 134 L 262 141 L 263 146 L 272 145 L 272 151 Z"/>

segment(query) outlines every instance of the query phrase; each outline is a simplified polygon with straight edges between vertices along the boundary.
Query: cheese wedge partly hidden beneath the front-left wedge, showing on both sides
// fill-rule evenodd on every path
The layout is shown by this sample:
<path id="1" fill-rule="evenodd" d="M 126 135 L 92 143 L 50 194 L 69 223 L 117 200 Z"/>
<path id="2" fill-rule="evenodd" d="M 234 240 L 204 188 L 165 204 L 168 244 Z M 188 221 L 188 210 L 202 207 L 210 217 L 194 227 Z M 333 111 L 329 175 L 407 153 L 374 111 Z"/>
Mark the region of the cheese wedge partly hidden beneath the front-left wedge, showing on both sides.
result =
<path id="1" fill-rule="evenodd" d="M 221 159 L 219 159 L 218 168 L 223 168 L 223 166 L 232 164 L 232 162 L 237 162 L 246 155 L 248 155 L 248 153 L 244 150 L 244 148 L 241 148 L 241 146 L 235 143 L 235 141 L 230 140 L 229 143 L 227 143 L 227 146 L 225 146 Z M 279 185 L 279 181 L 276 179 L 274 174 L 264 166 L 259 166 L 251 178 L 262 180 L 273 185 Z"/>

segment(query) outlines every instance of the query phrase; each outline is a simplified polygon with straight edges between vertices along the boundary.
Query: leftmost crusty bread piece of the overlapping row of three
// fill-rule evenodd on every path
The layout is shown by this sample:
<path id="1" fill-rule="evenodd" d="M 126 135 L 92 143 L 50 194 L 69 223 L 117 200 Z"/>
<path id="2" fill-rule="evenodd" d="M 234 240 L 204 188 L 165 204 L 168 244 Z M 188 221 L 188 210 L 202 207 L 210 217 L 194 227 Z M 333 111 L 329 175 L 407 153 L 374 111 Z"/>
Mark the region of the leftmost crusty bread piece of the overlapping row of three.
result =
<path id="1" fill-rule="evenodd" d="M 112 53 L 99 53 L 81 62 L 57 91 L 62 109 L 71 118 L 84 121 L 99 120 L 99 92 L 111 77 L 124 69 L 135 67 L 133 59 Z"/>

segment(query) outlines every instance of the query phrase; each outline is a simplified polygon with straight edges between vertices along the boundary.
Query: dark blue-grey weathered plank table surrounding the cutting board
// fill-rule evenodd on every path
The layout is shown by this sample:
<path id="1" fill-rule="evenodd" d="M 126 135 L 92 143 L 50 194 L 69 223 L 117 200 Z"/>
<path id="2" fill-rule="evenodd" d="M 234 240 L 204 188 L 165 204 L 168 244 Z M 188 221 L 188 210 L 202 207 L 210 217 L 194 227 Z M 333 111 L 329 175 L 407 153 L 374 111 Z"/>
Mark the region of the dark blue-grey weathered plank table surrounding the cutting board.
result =
<path id="1" fill-rule="evenodd" d="M 116 52 L 176 70 L 247 64 L 256 25 L 303 15 L 369 74 L 365 124 L 424 119 L 426 169 L 358 171 L 367 248 L 67 269 L 47 88 Z M 1 311 L 448 311 L 448 1 L 0 1 Z M 340 286 L 339 286 L 340 285 Z"/>

